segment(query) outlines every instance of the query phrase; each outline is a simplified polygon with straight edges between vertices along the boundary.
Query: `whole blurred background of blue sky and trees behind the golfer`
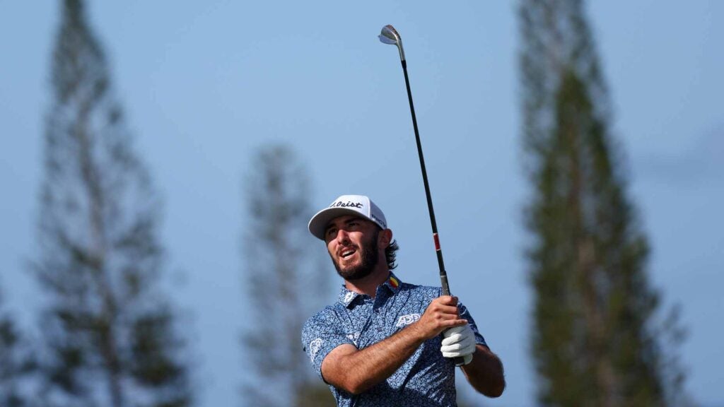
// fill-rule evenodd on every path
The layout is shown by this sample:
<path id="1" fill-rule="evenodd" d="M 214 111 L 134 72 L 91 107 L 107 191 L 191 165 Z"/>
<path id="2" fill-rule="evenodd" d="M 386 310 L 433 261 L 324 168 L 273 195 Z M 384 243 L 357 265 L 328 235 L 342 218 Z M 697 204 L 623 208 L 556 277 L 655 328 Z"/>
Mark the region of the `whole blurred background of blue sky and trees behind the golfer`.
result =
<path id="1" fill-rule="evenodd" d="M 322 406 L 308 217 L 371 196 L 505 365 L 724 406 L 724 3 L 0 2 L 0 405 Z M 602 373 L 604 372 L 604 373 Z M 637 381 L 638 380 L 638 381 Z M 640 391 L 636 391 L 638 389 Z"/>

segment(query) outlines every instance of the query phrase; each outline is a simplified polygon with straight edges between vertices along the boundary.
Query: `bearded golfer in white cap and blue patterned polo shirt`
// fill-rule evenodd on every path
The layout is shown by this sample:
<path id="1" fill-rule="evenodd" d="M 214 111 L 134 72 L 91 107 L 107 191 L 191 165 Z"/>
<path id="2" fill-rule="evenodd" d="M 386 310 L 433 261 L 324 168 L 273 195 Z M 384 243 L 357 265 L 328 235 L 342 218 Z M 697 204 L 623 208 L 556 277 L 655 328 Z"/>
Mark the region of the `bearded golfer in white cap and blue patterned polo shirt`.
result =
<path id="1" fill-rule="evenodd" d="M 302 344 L 338 406 L 456 406 L 454 358 L 468 382 L 498 397 L 502 363 L 473 317 L 441 288 L 391 272 L 397 243 L 366 196 L 340 196 L 309 221 L 345 280 L 339 298 L 307 320 Z"/>

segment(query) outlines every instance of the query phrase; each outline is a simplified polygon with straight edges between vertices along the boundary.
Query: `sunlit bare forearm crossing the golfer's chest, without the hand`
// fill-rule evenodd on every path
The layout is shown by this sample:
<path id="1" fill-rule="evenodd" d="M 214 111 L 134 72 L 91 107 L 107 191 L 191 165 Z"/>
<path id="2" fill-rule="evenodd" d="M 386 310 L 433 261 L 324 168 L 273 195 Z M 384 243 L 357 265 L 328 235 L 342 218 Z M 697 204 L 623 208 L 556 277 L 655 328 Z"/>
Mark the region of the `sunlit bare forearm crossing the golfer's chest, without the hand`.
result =
<path id="1" fill-rule="evenodd" d="M 333 380 L 337 383 L 330 383 L 353 394 L 369 390 L 400 369 L 423 342 L 423 335 L 411 324 L 374 345 L 340 356 Z"/>

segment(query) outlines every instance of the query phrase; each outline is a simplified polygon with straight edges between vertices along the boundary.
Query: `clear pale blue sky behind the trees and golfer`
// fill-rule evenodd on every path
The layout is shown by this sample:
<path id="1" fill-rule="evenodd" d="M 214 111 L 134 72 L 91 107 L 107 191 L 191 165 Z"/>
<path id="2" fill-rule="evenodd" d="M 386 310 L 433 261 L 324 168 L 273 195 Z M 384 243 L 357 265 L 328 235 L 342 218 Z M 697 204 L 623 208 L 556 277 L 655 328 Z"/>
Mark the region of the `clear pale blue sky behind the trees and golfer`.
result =
<path id="1" fill-rule="evenodd" d="M 687 390 L 723 406 L 724 3 L 598 1 L 588 7 L 626 153 L 629 196 L 666 304 L 683 306 Z M 290 143 L 311 202 L 365 193 L 402 250 L 402 280 L 437 284 L 403 74 L 403 37 L 445 264 L 505 363 L 488 406 L 531 406 L 530 290 L 521 253 L 527 185 L 515 6 L 504 1 L 93 1 L 135 147 L 164 197 L 167 286 L 191 311 L 201 406 L 236 406 L 245 374 L 241 182 L 251 154 Z M 0 286 L 33 326 L 43 114 L 55 3 L 0 1 Z M 319 250 L 324 250 L 319 246 Z M 336 291 L 336 288 L 332 291 Z M 334 293 L 330 292 L 332 298 Z M 24 301 L 25 300 L 25 301 Z M 238 324 L 228 324 L 232 318 Z"/>

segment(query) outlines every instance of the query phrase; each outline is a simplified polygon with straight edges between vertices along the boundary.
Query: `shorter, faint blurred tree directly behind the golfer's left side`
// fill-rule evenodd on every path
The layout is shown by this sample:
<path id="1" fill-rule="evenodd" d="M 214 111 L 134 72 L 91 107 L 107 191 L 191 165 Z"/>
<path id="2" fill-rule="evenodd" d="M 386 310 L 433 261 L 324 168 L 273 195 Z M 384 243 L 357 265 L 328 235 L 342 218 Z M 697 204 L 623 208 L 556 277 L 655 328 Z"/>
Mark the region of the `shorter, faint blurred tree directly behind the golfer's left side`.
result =
<path id="1" fill-rule="evenodd" d="M 284 145 L 262 148 L 245 180 L 248 222 L 242 255 L 251 321 L 243 335 L 253 379 L 244 386 L 249 406 L 334 406 L 299 343 L 302 324 L 321 309 L 329 265 L 306 229 L 309 180 Z M 313 246 L 315 245 L 316 246 Z"/>

